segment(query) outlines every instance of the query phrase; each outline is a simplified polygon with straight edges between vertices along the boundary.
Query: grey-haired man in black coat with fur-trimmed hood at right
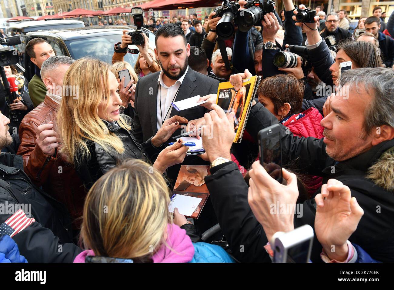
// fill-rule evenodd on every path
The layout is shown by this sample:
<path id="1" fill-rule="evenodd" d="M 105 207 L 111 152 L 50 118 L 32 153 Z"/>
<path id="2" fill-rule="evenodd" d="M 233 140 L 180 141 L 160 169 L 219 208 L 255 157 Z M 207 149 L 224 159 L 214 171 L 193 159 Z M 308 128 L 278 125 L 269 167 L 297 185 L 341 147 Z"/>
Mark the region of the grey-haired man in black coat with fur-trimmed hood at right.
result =
<path id="1" fill-rule="evenodd" d="M 364 210 L 349 240 L 382 262 L 394 261 L 393 78 L 391 69 L 345 72 L 343 87 L 321 122 L 325 128 L 322 139 L 299 138 L 281 126 L 283 164 L 292 161 L 297 172 L 322 176 L 323 184 L 335 178 L 348 186 Z M 248 204 L 248 186 L 236 164 L 229 161 L 234 133 L 227 129 L 223 118 L 210 115 L 210 139 L 203 136 L 203 145 L 212 168 L 205 182 L 221 229 L 235 258 L 269 262 L 263 247 L 268 242 L 266 235 Z M 246 130 L 256 138 L 259 130 L 273 124 L 278 124 L 277 119 L 264 106 L 255 104 Z M 314 227 L 314 199 L 305 201 L 302 208 L 302 214 L 294 217 L 294 226 Z M 321 250 L 315 238 L 312 261 L 320 261 Z"/>

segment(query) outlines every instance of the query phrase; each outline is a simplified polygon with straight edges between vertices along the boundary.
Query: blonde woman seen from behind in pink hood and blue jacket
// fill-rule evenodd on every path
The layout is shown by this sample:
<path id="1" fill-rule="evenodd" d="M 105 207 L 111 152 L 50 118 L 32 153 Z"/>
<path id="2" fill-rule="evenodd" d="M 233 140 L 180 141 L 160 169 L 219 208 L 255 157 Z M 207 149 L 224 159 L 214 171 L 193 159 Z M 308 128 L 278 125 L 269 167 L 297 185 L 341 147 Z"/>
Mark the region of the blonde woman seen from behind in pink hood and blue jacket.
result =
<path id="1" fill-rule="evenodd" d="M 218 245 L 191 242 L 180 227 L 194 225 L 177 210 L 173 223 L 169 196 L 160 172 L 141 160 L 108 171 L 87 194 L 80 237 L 89 250 L 74 262 L 233 262 Z"/>

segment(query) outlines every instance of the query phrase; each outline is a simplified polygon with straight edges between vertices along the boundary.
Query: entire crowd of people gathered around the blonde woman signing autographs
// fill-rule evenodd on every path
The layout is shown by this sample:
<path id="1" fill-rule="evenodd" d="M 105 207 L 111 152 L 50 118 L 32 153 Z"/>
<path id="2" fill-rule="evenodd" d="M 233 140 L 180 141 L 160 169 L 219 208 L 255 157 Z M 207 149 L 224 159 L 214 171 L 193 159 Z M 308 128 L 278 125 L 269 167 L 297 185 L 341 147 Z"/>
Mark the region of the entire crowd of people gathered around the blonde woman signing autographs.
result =
<path id="1" fill-rule="evenodd" d="M 310 262 L 394 261 L 394 14 L 385 23 L 375 7 L 351 32 L 345 10 L 318 6 L 305 24 L 296 21 L 305 6 L 283 4 L 225 41 L 214 12 L 144 19 L 155 43 L 142 34 L 134 67 L 124 60 L 128 30 L 112 64 L 30 40 L 30 82 L 5 67 L 21 99 L 0 105 L 0 262 L 271 262 L 275 233 L 303 225 L 314 229 Z M 275 66 L 294 45 L 305 48 L 297 65 Z M 218 86 L 239 91 L 255 75 L 233 143 L 234 113 L 216 104 Z M 197 95 L 199 106 L 172 106 Z M 282 183 L 258 159 L 258 133 L 275 124 Z M 173 139 L 184 132 L 202 139 L 204 154 L 186 154 Z M 210 166 L 198 219 L 169 212 L 181 165 Z M 273 214 L 276 204 L 302 212 Z"/>

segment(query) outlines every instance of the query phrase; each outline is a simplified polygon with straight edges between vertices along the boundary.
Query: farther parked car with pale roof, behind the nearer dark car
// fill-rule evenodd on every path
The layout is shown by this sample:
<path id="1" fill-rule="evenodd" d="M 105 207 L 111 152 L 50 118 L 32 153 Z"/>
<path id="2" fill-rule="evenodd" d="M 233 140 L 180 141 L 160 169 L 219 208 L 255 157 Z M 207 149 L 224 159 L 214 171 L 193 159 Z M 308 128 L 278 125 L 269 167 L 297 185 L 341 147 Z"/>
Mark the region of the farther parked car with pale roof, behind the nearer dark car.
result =
<path id="1" fill-rule="evenodd" d="M 63 29 L 63 28 L 80 28 L 85 27 L 84 22 L 80 20 L 38 20 L 24 21 L 18 24 L 10 24 L 7 28 L 8 35 L 26 34 L 32 31 Z"/>

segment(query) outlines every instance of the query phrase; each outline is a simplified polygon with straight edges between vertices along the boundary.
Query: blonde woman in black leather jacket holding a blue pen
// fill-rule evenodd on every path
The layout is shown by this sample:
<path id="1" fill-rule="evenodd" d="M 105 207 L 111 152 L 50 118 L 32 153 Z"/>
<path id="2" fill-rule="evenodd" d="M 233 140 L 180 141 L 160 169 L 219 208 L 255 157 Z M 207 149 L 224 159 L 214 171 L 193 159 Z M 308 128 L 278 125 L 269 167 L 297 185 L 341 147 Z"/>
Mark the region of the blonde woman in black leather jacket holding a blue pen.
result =
<path id="1" fill-rule="evenodd" d="M 65 92 L 57 115 L 62 138 L 59 150 L 76 167 L 88 189 L 126 158 L 148 161 L 157 156 L 153 167 L 162 173 L 183 162 L 188 147 L 183 147 L 182 141 L 168 147 L 163 143 L 188 120 L 171 117 L 155 136 L 140 144 L 130 131 L 130 118 L 119 113 L 118 82 L 107 63 L 78 59 L 67 70 L 63 86 L 74 91 Z"/>

